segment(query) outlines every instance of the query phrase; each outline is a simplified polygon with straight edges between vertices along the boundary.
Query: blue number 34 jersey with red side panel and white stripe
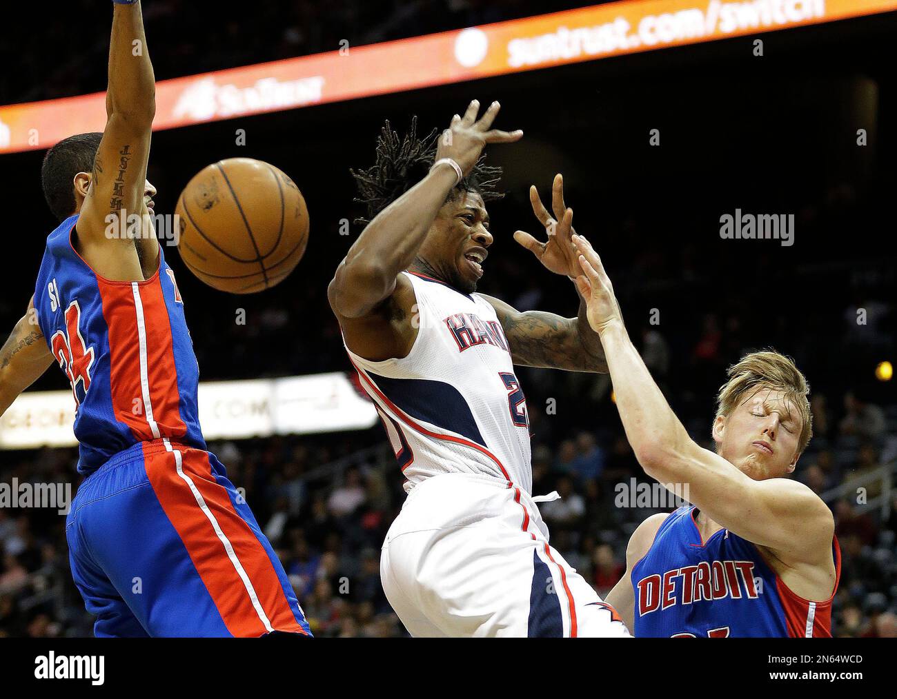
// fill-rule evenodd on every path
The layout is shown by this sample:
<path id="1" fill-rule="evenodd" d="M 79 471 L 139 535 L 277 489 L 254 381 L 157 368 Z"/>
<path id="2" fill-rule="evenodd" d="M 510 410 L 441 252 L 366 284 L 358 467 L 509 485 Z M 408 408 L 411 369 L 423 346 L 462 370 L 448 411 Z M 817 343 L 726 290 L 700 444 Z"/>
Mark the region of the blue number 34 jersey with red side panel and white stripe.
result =
<path id="1" fill-rule="evenodd" d="M 205 450 L 199 367 L 161 246 L 150 279 L 105 280 L 72 246 L 77 220 L 69 217 L 47 238 L 34 306 L 72 385 L 78 470 L 91 473 L 133 444 L 160 437 Z"/>

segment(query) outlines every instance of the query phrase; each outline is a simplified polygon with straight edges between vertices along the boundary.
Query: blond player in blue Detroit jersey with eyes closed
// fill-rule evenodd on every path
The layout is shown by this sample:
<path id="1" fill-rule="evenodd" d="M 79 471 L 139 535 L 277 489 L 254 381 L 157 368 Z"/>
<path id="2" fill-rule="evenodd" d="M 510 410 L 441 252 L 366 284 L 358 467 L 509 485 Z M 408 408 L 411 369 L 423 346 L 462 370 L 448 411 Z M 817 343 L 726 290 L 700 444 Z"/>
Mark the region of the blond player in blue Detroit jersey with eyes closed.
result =
<path id="1" fill-rule="evenodd" d="M 831 636 L 832 513 L 788 479 L 813 432 L 804 375 L 778 352 L 746 355 L 718 396 L 716 452 L 702 448 L 632 345 L 595 250 L 572 243 L 632 449 L 650 477 L 687 485 L 693 503 L 641 522 L 607 601 L 636 636 Z"/>

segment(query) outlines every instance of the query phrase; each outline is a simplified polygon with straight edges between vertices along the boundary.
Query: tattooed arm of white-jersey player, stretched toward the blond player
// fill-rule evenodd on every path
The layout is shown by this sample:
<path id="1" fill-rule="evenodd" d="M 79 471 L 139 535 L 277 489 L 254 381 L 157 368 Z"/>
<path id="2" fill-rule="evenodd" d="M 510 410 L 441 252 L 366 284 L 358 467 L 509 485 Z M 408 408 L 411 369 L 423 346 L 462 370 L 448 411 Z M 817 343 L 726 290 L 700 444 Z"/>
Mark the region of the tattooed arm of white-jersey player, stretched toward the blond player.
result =
<path id="1" fill-rule="evenodd" d="M 607 372 L 601 341 L 588 326 L 583 307 L 579 318 L 527 311 L 516 316 L 499 313 L 499 320 L 515 364 L 597 374 Z M 583 323 L 588 333 L 584 332 Z"/>

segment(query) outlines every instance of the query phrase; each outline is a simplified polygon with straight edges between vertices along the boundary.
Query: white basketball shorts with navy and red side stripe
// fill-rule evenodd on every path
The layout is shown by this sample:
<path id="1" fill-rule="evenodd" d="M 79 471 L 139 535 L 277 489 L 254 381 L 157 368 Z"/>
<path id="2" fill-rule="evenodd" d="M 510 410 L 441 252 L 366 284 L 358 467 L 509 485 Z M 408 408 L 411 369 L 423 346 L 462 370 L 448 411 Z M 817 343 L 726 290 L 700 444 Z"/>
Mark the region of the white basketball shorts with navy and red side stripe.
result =
<path id="1" fill-rule="evenodd" d="M 380 558 L 413 636 L 629 636 L 614 608 L 548 543 L 530 497 L 485 476 L 415 486 Z"/>

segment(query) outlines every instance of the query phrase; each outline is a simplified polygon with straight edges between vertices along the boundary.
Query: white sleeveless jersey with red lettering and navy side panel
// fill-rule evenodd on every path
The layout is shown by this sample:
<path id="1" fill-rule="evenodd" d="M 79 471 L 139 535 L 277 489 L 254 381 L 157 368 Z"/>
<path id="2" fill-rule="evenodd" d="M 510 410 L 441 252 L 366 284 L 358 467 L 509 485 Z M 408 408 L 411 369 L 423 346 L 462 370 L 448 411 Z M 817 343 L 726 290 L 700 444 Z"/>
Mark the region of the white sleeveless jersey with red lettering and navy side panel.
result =
<path id="1" fill-rule="evenodd" d="M 414 286 L 417 339 L 408 356 L 369 361 L 346 347 L 386 427 L 405 490 L 442 473 L 532 487 L 527 404 L 492 305 L 437 280 Z"/>

